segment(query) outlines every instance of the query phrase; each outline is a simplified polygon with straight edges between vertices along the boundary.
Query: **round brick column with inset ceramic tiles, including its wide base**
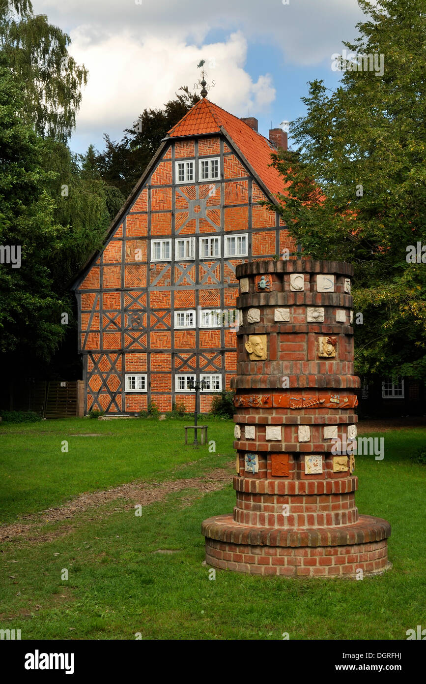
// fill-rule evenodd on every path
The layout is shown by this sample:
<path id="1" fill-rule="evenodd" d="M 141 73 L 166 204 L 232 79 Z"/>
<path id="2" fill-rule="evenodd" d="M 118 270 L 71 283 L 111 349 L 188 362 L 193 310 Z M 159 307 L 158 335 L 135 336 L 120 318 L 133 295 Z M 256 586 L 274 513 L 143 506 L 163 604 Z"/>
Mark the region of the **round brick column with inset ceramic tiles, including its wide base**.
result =
<path id="1" fill-rule="evenodd" d="M 349 264 L 304 259 L 237 267 L 237 501 L 233 516 L 202 524 L 208 566 L 289 577 L 390 567 L 390 525 L 358 515 L 347 456 L 359 386 L 352 274 Z"/>

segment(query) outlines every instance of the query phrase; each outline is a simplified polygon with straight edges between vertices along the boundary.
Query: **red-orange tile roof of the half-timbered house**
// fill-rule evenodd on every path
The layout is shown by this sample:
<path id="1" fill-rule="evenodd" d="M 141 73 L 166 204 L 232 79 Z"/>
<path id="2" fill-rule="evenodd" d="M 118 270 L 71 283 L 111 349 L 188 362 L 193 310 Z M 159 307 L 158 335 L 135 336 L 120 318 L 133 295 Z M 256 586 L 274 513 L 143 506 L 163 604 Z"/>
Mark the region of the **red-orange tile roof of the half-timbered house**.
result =
<path id="1" fill-rule="evenodd" d="M 256 133 L 244 121 L 214 105 L 210 100 L 203 98 L 197 102 L 168 133 L 170 137 L 202 135 L 218 133 L 221 127 L 235 142 L 268 190 L 273 194 L 283 192 L 283 176 L 269 166 L 274 147 L 266 137 Z"/>

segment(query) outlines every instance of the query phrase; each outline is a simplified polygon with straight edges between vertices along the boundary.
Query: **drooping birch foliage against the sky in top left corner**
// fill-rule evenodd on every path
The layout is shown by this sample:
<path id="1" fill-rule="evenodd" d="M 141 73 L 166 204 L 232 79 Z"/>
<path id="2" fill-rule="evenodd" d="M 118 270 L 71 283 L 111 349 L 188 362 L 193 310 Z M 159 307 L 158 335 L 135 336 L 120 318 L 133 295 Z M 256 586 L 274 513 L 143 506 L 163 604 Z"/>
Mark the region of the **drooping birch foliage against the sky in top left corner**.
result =
<path id="1" fill-rule="evenodd" d="M 68 140 L 87 70 L 68 53 L 70 36 L 33 14 L 30 0 L 0 0 L 0 51 L 23 88 L 23 116 L 39 135 Z"/>

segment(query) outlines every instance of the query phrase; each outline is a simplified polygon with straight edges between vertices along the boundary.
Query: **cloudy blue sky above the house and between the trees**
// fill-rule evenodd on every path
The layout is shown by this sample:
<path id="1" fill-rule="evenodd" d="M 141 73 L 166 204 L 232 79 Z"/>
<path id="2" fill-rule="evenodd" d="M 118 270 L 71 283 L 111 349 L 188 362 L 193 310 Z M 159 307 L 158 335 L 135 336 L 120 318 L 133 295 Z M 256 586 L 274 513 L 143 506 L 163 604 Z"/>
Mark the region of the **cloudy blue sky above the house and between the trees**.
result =
<path id="1" fill-rule="evenodd" d="M 331 55 L 353 40 L 363 18 L 356 0 L 33 0 L 70 34 L 70 53 L 89 69 L 70 147 L 103 148 L 122 138 L 145 107 L 193 90 L 206 60 L 209 98 L 235 116 L 259 120 L 268 135 L 304 114 L 307 82 L 335 89 Z M 210 66 L 209 66 L 210 64 Z"/>

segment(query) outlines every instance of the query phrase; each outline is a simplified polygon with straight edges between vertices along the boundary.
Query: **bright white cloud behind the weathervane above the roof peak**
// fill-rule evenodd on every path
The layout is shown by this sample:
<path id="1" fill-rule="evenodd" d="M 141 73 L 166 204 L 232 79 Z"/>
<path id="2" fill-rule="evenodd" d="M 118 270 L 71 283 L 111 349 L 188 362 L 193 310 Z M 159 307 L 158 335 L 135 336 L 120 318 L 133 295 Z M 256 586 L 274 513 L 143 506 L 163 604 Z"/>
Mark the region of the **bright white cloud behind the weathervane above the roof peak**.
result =
<path id="1" fill-rule="evenodd" d="M 122 130 L 145 107 L 162 107 L 180 86 L 201 76 L 195 64 L 206 56 L 208 83 L 215 82 L 209 98 L 219 106 L 244 116 L 248 107 L 268 107 L 275 97 L 270 75 L 256 82 L 244 71 L 247 43 L 242 34 L 231 34 L 227 42 L 201 48 L 177 38 L 151 36 L 143 41 L 130 34 L 90 42 L 87 29 L 72 31 L 70 53 L 89 69 L 89 83 L 77 117 L 79 133 Z M 211 62 L 210 62 L 211 58 Z M 212 66 L 209 67 L 209 62 Z M 214 66 L 213 66 L 214 65 Z"/>

